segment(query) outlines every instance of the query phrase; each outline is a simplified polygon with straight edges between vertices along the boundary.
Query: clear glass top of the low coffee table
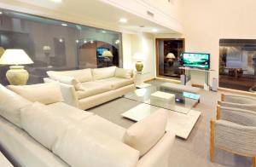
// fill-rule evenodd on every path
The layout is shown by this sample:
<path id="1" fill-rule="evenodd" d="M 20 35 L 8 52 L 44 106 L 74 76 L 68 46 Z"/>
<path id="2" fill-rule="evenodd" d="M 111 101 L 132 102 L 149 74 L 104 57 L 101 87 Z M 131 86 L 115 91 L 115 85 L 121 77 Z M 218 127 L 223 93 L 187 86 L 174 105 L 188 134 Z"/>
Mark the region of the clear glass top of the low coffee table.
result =
<path id="1" fill-rule="evenodd" d="M 161 98 L 159 100 L 154 97 L 154 101 L 150 101 L 150 95 L 155 92 L 165 92 L 172 95 L 175 95 L 175 104 L 174 107 L 172 104 L 166 105 L 167 102 L 162 101 Z M 168 110 L 172 110 L 174 112 L 182 112 L 188 113 L 192 107 L 195 107 L 197 103 L 200 101 L 200 95 L 193 94 L 189 92 L 176 91 L 172 89 L 161 88 L 160 86 L 150 86 L 148 88 L 136 89 L 135 91 L 125 94 L 126 99 L 130 99 L 132 101 L 139 101 L 142 103 L 146 103 L 155 107 L 161 107 Z M 159 102 L 156 102 L 159 101 Z"/>

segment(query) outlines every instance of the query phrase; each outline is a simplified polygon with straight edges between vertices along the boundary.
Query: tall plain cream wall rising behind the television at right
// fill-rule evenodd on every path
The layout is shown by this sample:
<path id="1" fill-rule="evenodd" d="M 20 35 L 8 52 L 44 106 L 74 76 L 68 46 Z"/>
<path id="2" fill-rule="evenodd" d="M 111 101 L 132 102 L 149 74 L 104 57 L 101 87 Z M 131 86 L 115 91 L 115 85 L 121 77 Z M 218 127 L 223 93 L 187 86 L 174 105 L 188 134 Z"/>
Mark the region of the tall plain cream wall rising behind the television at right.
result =
<path id="1" fill-rule="evenodd" d="M 183 0 L 186 51 L 211 54 L 212 78 L 218 78 L 220 38 L 256 38 L 255 0 Z"/>

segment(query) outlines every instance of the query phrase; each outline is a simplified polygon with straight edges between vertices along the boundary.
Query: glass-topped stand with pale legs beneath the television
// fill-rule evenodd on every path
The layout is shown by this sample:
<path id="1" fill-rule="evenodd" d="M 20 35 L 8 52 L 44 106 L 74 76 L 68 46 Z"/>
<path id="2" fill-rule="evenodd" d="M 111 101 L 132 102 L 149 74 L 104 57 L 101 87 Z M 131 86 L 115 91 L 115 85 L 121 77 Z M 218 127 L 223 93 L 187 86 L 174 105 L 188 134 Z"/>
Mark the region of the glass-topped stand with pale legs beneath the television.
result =
<path id="1" fill-rule="evenodd" d="M 206 89 L 207 91 L 210 90 L 209 78 L 210 78 L 211 72 L 213 72 L 214 70 L 195 68 L 195 67 L 189 67 L 189 66 L 181 66 L 181 67 L 179 67 L 179 69 L 185 70 L 186 78 L 188 78 L 188 79 L 186 79 L 186 83 L 187 83 L 187 81 L 189 81 L 191 79 L 191 71 L 205 72 L 204 89 Z"/>

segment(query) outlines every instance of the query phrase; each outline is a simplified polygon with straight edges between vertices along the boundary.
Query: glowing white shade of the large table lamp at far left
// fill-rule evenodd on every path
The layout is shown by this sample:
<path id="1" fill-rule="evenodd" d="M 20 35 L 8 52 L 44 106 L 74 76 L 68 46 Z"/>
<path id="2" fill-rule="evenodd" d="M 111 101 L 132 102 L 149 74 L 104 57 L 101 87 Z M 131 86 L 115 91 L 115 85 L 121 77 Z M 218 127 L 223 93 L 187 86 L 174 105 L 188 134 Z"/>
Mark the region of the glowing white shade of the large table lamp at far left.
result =
<path id="1" fill-rule="evenodd" d="M 23 49 L 6 49 L 0 59 L 1 65 L 26 65 L 32 63 L 33 61 Z"/>

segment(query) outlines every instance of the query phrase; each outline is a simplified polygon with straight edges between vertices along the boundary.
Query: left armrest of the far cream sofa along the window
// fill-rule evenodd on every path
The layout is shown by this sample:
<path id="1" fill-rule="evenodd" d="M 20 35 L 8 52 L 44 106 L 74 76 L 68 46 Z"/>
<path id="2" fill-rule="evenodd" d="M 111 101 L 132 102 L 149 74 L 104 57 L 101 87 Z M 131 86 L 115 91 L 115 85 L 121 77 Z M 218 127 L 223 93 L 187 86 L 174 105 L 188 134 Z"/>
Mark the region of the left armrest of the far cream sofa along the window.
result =
<path id="1" fill-rule="evenodd" d="M 57 82 L 50 78 L 44 78 L 44 83 Z M 59 82 L 60 83 L 60 82 Z M 79 107 L 78 95 L 73 87 L 73 85 L 67 83 L 60 83 L 61 93 L 63 95 L 65 103 L 73 107 Z"/>

